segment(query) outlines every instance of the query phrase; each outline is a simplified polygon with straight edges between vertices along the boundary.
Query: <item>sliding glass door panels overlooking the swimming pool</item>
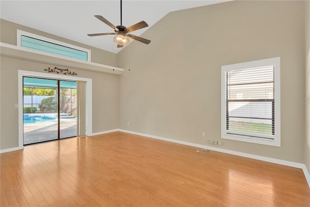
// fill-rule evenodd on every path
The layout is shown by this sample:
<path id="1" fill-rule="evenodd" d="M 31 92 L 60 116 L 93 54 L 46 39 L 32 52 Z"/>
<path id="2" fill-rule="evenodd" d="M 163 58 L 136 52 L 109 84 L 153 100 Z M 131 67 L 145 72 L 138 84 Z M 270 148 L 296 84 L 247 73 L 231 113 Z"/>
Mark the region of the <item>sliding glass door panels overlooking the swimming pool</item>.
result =
<path id="1" fill-rule="evenodd" d="M 77 136 L 77 82 L 23 77 L 24 145 Z"/>

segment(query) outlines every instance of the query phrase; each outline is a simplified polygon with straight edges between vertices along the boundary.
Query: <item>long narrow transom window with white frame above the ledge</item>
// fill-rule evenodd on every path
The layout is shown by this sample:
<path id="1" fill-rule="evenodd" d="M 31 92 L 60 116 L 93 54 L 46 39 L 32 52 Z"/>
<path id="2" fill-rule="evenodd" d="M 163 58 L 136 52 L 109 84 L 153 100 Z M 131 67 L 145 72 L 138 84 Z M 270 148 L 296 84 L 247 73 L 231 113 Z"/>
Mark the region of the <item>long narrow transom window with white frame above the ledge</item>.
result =
<path id="1" fill-rule="evenodd" d="M 33 49 L 41 54 L 49 53 L 49 55 L 56 55 L 62 58 L 89 62 L 91 60 L 91 51 L 89 49 L 80 48 L 20 30 L 17 30 L 17 46 Z"/>

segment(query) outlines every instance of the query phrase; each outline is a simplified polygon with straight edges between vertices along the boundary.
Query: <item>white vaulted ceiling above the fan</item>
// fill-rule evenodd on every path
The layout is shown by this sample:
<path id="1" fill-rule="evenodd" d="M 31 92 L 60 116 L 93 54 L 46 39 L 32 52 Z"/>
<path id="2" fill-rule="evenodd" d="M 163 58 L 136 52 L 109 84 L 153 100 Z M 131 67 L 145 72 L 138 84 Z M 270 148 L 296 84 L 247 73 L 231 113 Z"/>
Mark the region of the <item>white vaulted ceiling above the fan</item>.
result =
<path id="1" fill-rule="evenodd" d="M 171 11 L 224 1 L 123 0 L 122 23 L 129 27 L 141 20 L 147 22 L 149 27 L 131 33 L 139 36 Z M 87 36 L 89 33 L 114 32 L 94 15 L 105 17 L 115 26 L 120 25 L 120 0 L 0 0 L 2 19 L 113 53 L 119 52 L 122 48 L 116 48 L 113 35 Z"/>

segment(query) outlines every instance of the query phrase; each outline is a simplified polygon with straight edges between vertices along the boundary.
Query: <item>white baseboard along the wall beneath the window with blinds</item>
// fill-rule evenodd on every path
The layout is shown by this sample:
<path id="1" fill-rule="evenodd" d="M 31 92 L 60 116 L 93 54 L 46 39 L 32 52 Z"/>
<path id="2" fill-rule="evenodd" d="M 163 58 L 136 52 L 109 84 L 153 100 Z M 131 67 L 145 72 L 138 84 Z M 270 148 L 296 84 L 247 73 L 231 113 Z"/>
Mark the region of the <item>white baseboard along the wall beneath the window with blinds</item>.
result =
<path id="1" fill-rule="evenodd" d="M 237 155 L 237 156 L 241 156 L 241 157 L 245 157 L 245 158 L 258 159 L 258 160 L 262 160 L 262 161 L 266 161 L 266 162 L 271 162 L 271 163 L 275 163 L 275 164 L 280 164 L 280 165 L 286 165 L 286 166 L 290 166 L 290 167 L 300 168 L 300 169 L 303 170 L 303 172 L 305 174 L 305 177 L 306 177 L 306 180 L 308 182 L 308 186 L 310 188 L 310 174 L 309 174 L 309 172 L 307 170 L 306 165 L 303 164 L 303 163 L 292 162 L 292 161 L 287 161 L 287 160 L 282 160 L 282 159 L 268 158 L 268 157 L 259 156 L 259 155 L 252 155 L 252 154 L 248 154 L 248 153 L 237 152 L 237 151 L 228 150 L 228 149 L 221 149 L 221 148 L 207 146 L 207 145 L 202 145 L 202 144 L 189 143 L 189 142 L 184 142 L 184 141 L 180 141 L 180 140 L 174 140 L 174 139 L 158 137 L 158 136 L 149 135 L 149 134 L 143 134 L 143 133 L 134 132 L 134 131 L 128 131 L 128 130 L 124 130 L 124 129 L 118 129 L 118 131 L 122 131 L 122 132 L 125 132 L 125 133 L 130 133 L 130 134 L 136 134 L 136 135 L 140 135 L 140 136 L 144 136 L 144 137 L 149 137 L 149 138 L 154 138 L 154 139 L 158 139 L 158 140 L 164 140 L 164 141 L 168 141 L 168 142 L 172 142 L 172 143 L 180 143 L 180 144 L 185 144 L 185 145 L 189 145 L 189 146 L 195 146 L 195 147 L 199 147 L 199 148 L 202 148 L 202 149 L 210 149 L 210 150 L 214 150 L 214 151 L 217 151 L 217 152 L 227 153 L 227 154 L 231 154 L 231 155 Z"/>

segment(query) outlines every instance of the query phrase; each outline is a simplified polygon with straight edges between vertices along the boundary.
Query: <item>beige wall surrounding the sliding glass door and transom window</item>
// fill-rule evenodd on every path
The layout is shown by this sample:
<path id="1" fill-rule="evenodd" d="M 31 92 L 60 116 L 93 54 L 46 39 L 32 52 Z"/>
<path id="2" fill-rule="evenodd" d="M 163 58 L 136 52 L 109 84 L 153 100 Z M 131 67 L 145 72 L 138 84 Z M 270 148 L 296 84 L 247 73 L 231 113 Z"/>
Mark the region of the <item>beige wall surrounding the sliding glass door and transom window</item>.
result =
<path id="1" fill-rule="evenodd" d="M 81 44 L 58 38 L 44 32 L 32 30 L 21 25 L 1 20 L 1 42 L 16 45 L 16 29 L 47 36 L 62 42 Z M 85 47 L 86 48 L 86 47 Z M 97 63 L 113 65 L 113 54 L 97 48 L 92 49 L 92 60 Z M 100 57 L 100 58 L 99 58 Z M 18 103 L 17 71 L 28 70 L 44 72 L 48 67 L 59 65 L 42 64 L 15 58 L 2 57 L 0 64 L 0 149 L 18 146 L 18 111 L 14 104 Z M 66 67 L 67 68 L 67 67 Z M 78 77 L 92 79 L 93 83 L 93 133 L 118 128 L 118 76 L 69 68 Z"/>

